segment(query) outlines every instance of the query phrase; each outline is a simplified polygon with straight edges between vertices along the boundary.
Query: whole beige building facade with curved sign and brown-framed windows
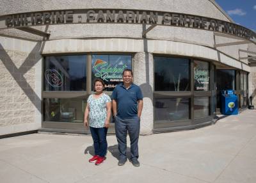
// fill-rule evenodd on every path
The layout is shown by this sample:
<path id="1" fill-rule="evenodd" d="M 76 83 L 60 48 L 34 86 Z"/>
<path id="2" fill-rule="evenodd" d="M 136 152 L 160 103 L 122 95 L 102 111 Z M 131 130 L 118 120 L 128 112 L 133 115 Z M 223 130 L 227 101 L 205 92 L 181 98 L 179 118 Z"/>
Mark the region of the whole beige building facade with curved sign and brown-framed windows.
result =
<path id="1" fill-rule="evenodd" d="M 125 68 L 144 96 L 141 134 L 214 123 L 222 90 L 236 92 L 239 111 L 256 104 L 256 33 L 215 1 L 0 5 L 0 136 L 88 133 L 93 79 L 111 95 Z"/>

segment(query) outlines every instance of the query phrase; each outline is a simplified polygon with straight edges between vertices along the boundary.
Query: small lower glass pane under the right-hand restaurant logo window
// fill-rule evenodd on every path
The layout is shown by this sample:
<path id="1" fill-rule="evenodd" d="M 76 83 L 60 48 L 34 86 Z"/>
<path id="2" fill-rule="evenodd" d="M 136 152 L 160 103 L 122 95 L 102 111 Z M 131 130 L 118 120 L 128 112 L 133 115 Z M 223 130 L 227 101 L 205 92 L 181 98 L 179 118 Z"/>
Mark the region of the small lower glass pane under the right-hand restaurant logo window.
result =
<path id="1" fill-rule="evenodd" d="M 209 97 L 194 98 L 194 118 L 209 116 Z"/>

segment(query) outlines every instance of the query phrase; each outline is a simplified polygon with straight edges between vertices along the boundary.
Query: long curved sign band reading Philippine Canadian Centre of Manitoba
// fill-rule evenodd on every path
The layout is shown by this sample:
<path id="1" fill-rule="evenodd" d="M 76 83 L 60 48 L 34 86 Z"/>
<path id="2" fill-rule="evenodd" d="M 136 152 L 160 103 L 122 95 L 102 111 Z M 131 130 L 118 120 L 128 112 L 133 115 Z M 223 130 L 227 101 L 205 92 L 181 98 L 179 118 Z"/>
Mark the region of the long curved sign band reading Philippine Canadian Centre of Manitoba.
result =
<path id="1" fill-rule="evenodd" d="M 157 24 L 217 31 L 256 42 L 256 33 L 231 22 L 208 17 L 147 10 L 62 10 L 31 12 L 0 17 L 0 29 L 45 24 L 123 23 Z"/>

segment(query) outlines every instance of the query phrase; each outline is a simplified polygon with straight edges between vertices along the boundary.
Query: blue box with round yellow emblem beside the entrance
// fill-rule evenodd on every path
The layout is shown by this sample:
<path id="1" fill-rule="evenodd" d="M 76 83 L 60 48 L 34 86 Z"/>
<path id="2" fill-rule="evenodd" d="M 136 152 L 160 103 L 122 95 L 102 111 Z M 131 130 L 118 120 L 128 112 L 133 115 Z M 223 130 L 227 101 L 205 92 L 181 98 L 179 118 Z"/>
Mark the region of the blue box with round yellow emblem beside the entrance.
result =
<path id="1" fill-rule="evenodd" d="M 223 90 L 221 92 L 221 113 L 222 115 L 237 115 L 237 95 L 234 90 Z"/>

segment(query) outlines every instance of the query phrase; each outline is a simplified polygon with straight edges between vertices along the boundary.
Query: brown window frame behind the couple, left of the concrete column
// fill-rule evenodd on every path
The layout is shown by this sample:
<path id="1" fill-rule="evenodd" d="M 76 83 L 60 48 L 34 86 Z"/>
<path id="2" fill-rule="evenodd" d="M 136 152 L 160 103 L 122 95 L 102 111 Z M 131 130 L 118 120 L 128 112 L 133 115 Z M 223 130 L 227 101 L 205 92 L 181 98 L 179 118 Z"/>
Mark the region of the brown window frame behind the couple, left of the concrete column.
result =
<path id="1" fill-rule="evenodd" d="M 42 54 L 42 79 L 41 79 L 41 93 L 42 100 L 44 99 L 81 99 L 87 100 L 88 97 L 93 93 L 92 90 L 92 55 L 128 55 L 131 56 L 131 67 L 133 71 L 133 61 L 134 61 L 134 52 L 79 52 L 79 53 L 61 53 L 61 54 Z M 74 56 L 74 55 L 86 55 L 86 91 L 44 91 L 44 70 L 45 70 L 45 57 L 46 56 Z M 105 91 L 107 95 L 111 95 L 112 92 Z M 41 102 L 42 109 L 42 128 L 44 131 L 58 131 L 61 132 L 76 132 L 76 133 L 85 133 L 90 134 L 89 129 L 85 129 L 83 127 L 83 123 L 81 122 L 52 122 L 52 121 L 44 121 L 44 102 Z M 54 130 L 52 130 L 54 129 Z M 115 124 L 110 123 L 109 125 L 109 134 L 115 133 Z"/>

